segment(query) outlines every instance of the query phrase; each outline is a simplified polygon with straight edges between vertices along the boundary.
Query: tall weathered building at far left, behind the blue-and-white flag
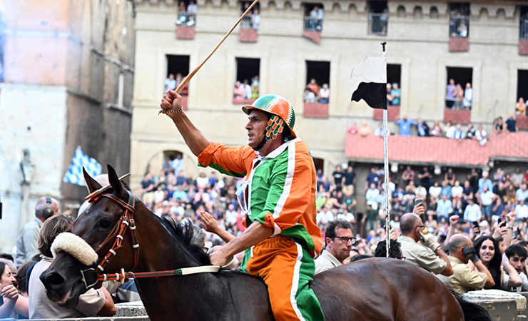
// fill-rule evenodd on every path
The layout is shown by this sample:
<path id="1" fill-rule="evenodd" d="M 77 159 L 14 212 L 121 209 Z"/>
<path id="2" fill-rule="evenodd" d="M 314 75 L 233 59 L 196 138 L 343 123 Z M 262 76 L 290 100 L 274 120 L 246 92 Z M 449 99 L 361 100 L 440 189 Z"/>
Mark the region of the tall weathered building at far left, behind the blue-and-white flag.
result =
<path id="1" fill-rule="evenodd" d="M 0 250 L 41 196 L 76 214 L 86 188 L 63 178 L 77 146 L 128 172 L 134 19 L 125 0 L 0 1 Z"/>

